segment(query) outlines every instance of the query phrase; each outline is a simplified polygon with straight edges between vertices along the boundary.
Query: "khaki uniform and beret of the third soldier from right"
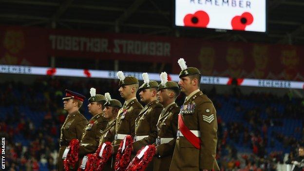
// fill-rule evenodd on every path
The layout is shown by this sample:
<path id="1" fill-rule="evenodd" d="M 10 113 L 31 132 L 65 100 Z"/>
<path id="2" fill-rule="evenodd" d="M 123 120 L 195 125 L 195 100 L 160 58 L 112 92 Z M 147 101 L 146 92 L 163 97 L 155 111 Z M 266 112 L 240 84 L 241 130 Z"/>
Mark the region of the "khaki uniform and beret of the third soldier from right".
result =
<path id="1" fill-rule="evenodd" d="M 150 81 L 150 86 L 143 84 L 139 91 L 143 89 L 157 88 L 156 81 Z M 164 109 L 163 105 L 157 100 L 148 103 L 138 114 L 135 120 L 135 136 L 133 143 L 133 152 L 136 154 L 142 147 L 155 143 L 157 137 L 156 124 L 160 113 Z M 146 168 L 146 171 L 153 170 L 153 161 Z"/>

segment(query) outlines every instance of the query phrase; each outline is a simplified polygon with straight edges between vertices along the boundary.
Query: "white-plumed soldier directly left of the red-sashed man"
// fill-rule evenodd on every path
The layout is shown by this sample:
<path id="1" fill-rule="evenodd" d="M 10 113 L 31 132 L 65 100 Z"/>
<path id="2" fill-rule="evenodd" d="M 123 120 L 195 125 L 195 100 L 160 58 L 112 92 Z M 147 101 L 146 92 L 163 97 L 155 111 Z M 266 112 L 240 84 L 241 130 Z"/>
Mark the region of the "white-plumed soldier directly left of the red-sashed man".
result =
<path id="1" fill-rule="evenodd" d="M 157 122 L 158 136 L 153 171 L 169 171 L 180 109 L 175 103 L 175 99 L 180 94 L 180 88 L 176 82 L 168 81 L 166 72 L 161 73 L 160 77 L 162 81 L 158 86 L 157 96 L 164 109 Z"/>

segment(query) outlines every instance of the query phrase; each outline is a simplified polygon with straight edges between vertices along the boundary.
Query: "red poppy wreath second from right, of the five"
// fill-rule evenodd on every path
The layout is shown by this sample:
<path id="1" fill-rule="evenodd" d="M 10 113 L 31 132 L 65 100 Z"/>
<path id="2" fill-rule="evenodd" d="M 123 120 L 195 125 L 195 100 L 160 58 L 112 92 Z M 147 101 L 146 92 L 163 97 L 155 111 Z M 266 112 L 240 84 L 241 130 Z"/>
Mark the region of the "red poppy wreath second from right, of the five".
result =
<path id="1" fill-rule="evenodd" d="M 122 152 L 123 142 L 126 139 L 125 149 Z M 133 144 L 133 136 L 127 135 L 124 140 L 120 142 L 118 152 L 116 154 L 115 171 L 125 171 L 131 161 L 131 153 L 132 153 L 132 144 Z"/>

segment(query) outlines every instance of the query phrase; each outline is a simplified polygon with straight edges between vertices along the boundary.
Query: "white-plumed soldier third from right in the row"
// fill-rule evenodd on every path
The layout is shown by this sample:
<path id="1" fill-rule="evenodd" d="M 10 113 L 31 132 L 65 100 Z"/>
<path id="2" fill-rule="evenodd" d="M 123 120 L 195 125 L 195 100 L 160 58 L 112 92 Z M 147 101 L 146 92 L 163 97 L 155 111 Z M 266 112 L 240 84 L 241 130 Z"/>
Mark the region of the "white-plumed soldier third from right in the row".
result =
<path id="1" fill-rule="evenodd" d="M 156 123 L 159 114 L 164 109 L 163 105 L 157 101 L 156 81 L 150 81 L 147 73 L 143 73 L 144 84 L 139 87 L 140 100 L 146 106 L 140 111 L 135 120 L 135 136 L 133 152 L 136 153 L 142 147 L 153 144 L 157 137 Z M 146 171 L 153 171 L 153 161 L 146 168 Z"/>

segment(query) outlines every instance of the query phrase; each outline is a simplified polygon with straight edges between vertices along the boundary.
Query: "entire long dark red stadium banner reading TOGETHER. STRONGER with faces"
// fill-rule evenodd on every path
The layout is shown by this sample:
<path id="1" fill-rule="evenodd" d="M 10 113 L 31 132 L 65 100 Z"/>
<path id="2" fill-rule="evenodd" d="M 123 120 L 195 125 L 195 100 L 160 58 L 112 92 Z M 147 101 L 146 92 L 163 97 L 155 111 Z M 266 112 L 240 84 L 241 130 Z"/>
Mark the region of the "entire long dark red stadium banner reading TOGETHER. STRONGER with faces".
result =
<path id="1" fill-rule="evenodd" d="M 49 66 L 48 57 L 171 63 L 184 57 L 204 76 L 304 80 L 304 48 L 200 39 L 0 26 L 0 64 Z"/>

